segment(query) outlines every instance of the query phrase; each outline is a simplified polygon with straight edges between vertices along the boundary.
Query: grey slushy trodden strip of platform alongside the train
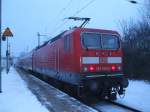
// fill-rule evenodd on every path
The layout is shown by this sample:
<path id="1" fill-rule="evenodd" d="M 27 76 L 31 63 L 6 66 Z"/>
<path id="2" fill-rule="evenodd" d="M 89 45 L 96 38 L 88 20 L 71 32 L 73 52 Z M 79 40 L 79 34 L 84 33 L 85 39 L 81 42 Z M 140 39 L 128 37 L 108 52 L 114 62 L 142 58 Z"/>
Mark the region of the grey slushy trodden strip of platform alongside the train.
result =
<path id="1" fill-rule="evenodd" d="M 52 112 L 97 112 L 77 99 L 27 73 L 17 70 L 30 90 Z"/>

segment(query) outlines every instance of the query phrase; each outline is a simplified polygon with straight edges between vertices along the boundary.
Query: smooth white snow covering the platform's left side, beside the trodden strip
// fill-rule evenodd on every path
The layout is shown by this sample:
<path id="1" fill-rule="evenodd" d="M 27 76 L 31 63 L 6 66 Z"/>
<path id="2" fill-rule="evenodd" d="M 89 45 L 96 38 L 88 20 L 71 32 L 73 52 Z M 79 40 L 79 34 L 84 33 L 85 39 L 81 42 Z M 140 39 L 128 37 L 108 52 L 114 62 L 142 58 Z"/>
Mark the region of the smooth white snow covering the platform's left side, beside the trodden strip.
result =
<path id="1" fill-rule="evenodd" d="M 48 112 L 27 88 L 14 68 L 2 72 L 0 112 Z"/>

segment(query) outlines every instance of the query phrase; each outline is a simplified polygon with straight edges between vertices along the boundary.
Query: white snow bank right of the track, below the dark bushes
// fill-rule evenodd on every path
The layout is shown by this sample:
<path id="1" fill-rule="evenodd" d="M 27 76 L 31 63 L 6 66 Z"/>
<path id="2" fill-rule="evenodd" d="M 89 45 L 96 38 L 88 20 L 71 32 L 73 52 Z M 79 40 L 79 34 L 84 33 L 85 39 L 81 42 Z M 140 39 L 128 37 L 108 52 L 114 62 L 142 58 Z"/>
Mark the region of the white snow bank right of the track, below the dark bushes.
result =
<path id="1" fill-rule="evenodd" d="M 150 112 L 150 84 L 144 81 L 130 81 L 125 98 L 118 98 L 117 102 Z"/>

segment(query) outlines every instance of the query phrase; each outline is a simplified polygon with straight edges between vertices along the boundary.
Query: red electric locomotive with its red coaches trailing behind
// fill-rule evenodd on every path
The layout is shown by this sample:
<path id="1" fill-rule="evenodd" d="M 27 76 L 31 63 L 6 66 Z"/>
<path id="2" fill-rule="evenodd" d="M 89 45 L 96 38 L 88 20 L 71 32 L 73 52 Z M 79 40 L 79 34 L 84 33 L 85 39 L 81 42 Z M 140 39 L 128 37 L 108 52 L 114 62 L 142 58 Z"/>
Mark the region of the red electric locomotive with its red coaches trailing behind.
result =
<path id="1" fill-rule="evenodd" d="M 116 31 L 73 28 L 21 60 L 25 64 L 19 66 L 77 86 L 79 93 L 86 88 L 103 97 L 116 98 L 128 86 Z"/>

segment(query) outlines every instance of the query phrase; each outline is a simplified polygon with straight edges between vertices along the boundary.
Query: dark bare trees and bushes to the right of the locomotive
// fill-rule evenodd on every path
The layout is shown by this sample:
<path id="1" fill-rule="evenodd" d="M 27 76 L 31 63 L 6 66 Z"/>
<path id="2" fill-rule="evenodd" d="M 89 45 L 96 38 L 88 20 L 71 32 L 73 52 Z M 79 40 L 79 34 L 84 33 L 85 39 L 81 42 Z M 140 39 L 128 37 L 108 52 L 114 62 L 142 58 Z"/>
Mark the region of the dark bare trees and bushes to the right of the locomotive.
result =
<path id="1" fill-rule="evenodd" d="M 150 80 L 150 0 L 145 0 L 141 21 L 121 22 L 125 73 Z"/>

